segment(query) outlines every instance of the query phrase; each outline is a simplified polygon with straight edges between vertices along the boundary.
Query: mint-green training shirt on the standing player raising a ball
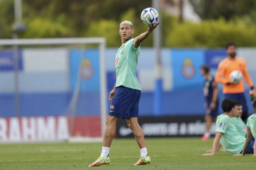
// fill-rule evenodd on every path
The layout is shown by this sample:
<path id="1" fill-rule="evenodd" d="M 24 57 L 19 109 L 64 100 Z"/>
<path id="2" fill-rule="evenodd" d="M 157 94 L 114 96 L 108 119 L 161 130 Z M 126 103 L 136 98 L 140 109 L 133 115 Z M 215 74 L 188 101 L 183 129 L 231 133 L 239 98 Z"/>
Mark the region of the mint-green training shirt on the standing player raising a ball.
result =
<path id="1" fill-rule="evenodd" d="M 125 86 L 132 89 L 141 90 L 140 83 L 137 80 L 135 69 L 140 55 L 140 46 L 134 47 L 134 39 L 122 44 L 116 54 L 116 87 Z"/>

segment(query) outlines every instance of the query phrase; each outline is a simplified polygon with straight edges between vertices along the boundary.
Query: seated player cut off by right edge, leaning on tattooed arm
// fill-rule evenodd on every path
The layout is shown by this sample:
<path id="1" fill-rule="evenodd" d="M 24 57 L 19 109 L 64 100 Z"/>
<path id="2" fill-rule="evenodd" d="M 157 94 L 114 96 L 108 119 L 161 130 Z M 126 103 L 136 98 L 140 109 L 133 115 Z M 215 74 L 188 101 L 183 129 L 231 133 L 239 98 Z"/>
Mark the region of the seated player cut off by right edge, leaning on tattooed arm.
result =
<path id="1" fill-rule="evenodd" d="M 248 148 L 253 148 L 250 153 L 253 153 L 252 156 L 256 156 L 256 142 L 252 138 L 256 137 L 256 100 L 254 100 L 252 107 L 254 109 L 254 114 L 249 116 L 247 119 L 247 136 L 244 144 L 243 152 L 240 154 L 235 154 L 234 156 L 244 156 Z"/>

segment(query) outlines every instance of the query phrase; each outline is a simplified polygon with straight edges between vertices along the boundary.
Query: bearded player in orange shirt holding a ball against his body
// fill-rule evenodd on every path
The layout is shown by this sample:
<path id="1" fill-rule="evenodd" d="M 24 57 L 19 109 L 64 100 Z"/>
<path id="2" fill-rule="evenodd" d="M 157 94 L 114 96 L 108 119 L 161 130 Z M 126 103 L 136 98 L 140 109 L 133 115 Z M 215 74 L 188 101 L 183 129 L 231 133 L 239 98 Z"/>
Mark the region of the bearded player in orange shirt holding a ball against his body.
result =
<path id="1" fill-rule="evenodd" d="M 256 98 L 256 92 L 254 90 L 254 84 L 250 78 L 250 75 L 246 68 L 246 63 L 243 58 L 236 56 L 236 46 L 234 43 L 228 43 L 226 45 L 226 52 L 228 57 L 220 61 L 218 65 L 218 70 L 216 72 L 215 81 L 217 83 L 224 84 L 223 86 L 223 94 L 224 97 L 239 100 L 243 105 L 243 114 L 241 116 L 242 120 L 245 121 L 247 118 L 247 104 L 244 95 L 244 84 L 243 81 L 240 80 L 237 84 L 231 82 L 229 77 L 230 73 L 234 70 L 239 70 L 244 78 L 246 83 L 251 88 L 249 94 Z"/>

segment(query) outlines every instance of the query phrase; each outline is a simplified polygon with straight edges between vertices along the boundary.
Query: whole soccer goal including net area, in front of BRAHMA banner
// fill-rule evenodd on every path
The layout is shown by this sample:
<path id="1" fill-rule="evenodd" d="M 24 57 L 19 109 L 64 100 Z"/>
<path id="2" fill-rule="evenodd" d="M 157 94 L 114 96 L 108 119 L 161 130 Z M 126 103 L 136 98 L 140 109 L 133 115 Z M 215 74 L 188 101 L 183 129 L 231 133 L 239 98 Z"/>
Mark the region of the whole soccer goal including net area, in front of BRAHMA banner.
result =
<path id="1" fill-rule="evenodd" d="M 102 37 L 0 40 L 0 142 L 102 139 L 105 46 Z"/>

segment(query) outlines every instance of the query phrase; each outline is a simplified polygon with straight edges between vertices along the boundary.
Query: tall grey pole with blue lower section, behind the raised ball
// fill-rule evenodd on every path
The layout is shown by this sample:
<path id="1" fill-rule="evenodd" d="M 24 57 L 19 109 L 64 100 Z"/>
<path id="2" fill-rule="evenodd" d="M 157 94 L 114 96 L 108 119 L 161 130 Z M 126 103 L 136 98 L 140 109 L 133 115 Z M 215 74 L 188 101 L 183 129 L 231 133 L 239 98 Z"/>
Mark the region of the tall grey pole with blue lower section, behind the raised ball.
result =
<path id="1" fill-rule="evenodd" d="M 152 0 L 152 6 L 158 11 L 160 17 L 160 5 L 158 0 Z M 163 80 L 162 80 L 162 63 L 161 63 L 161 40 L 162 38 L 162 27 L 161 24 L 153 31 L 153 45 L 156 52 L 156 78 L 155 78 L 155 92 L 154 92 L 154 115 L 158 116 L 162 113 L 162 91 L 163 91 Z"/>

